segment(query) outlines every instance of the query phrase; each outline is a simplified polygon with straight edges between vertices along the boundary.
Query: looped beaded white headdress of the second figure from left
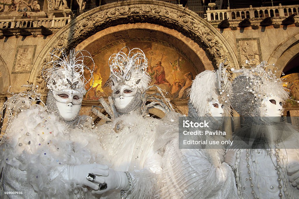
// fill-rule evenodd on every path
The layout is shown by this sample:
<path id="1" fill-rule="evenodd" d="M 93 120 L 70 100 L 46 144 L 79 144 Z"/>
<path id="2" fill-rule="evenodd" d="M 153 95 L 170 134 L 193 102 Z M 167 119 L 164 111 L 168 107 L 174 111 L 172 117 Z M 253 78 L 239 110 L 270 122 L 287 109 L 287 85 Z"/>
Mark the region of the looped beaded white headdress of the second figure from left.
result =
<path id="1" fill-rule="evenodd" d="M 123 52 L 125 48 L 128 49 L 128 54 Z M 107 83 L 112 90 L 118 84 L 126 84 L 132 88 L 140 89 L 141 92 L 148 87 L 151 78 L 147 73 L 147 58 L 139 48 L 129 50 L 128 47 L 124 47 L 119 53 L 110 56 L 108 64 L 110 81 Z"/>

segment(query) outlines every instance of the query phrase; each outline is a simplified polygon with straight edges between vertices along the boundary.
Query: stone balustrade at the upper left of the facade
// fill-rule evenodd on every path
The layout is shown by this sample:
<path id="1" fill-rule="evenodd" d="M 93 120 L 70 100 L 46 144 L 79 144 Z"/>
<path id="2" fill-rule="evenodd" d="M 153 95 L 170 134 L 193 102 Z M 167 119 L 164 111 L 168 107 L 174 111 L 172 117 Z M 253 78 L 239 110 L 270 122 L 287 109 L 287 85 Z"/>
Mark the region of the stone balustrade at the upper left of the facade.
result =
<path id="1" fill-rule="evenodd" d="M 0 28 L 35 28 L 44 27 L 63 27 L 70 22 L 71 16 L 53 18 L 27 18 L 27 19 L 0 19 Z"/>

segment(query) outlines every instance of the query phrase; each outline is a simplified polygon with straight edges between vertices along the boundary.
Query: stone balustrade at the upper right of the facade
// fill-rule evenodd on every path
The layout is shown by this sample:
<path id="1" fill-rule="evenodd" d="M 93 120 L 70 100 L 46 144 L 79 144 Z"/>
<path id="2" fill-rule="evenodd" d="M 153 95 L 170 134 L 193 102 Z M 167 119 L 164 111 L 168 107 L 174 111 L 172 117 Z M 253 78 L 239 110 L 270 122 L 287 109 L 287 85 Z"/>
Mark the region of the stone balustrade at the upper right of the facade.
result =
<path id="1" fill-rule="evenodd" d="M 222 21 L 226 18 L 230 20 L 243 20 L 245 18 L 266 18 L 280 17 L 285 18 L 292 14 L 299 15 L 299 5 L 270 6 L 270 7 L 252 7 L 226 9 L 226 10 L 207 10 L 208 21 Z"/>

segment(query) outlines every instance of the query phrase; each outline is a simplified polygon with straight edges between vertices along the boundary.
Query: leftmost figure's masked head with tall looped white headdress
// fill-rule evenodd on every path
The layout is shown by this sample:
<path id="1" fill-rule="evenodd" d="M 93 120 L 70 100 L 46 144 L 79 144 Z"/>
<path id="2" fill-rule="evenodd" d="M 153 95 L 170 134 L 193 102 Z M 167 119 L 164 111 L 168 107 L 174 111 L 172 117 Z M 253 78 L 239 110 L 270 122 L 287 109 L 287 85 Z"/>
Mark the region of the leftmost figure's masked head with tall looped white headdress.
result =
<path id="1" fill-rule="evenodd" d="M 86 66 L 84 62 L 91 63 Z M 69 55 L 64 49 L 54 49 L 51 61 L 42 69 L 42 77 L 49 89 L 46 105 L 48 111 L 57 115 L 70 127 L 78 124 L 79 112 L 86 93 L 86 85 L 92 88 L 94 60 L 86 50 L 70 50 Z M 88 73 L 88 77 L 84 76 Z M 92 84 L 90 84 L 92 82 Z"/>

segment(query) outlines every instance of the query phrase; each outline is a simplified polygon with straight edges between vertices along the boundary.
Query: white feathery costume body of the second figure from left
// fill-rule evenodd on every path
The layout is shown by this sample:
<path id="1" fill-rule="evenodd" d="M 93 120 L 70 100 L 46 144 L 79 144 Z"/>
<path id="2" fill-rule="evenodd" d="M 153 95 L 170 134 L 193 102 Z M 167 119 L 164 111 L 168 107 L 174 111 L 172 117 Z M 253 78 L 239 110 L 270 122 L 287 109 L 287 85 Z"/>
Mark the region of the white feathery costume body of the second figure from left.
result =
<path id="1" fill-rule="evenodd" d="M 113 130 L 118 122 L 123 125 L 119 133 Z M 130 112 L 98 130 L 103 149 L 112 157 L 112 168 L 128 171 L 132 176 L 127 198 L 152 198 L 155 193 L 161 156 L 153 150 L 153 144 L 160 123 L 161 120 Z M 106 192 L 102 198 L 120 198 L 120 190 Z"/>

